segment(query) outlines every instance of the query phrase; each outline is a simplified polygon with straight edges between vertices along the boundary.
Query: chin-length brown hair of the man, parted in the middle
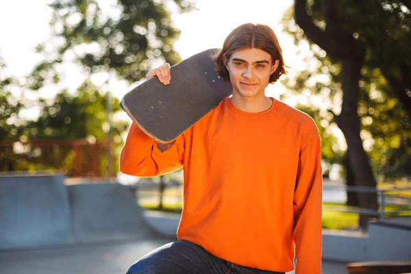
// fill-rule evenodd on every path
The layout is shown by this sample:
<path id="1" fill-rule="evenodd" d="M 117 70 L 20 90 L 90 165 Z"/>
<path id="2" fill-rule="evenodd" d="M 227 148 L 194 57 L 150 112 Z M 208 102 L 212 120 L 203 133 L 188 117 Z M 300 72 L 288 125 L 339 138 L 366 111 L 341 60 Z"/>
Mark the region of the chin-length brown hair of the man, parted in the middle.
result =
<path id="1" fill-rule="evenodd" d="M 236 27 L 225 38 L 223 49 L 220 49 L 214 54 L 214 62 L 216 63 L 216 72 L 229 82 L 229 72 L 223 62 L 223 56 L 225 60 L 229 60 L 232 53 L 239 49 L 261 49 L 269 53 L 272 58 L 272 62 L 279 60 L 279 64 L 275 72 L 270 76 L 269 83 L 273 84 L 277 81 L 280 75 L 286 74 L 284 60 L 282 57 L 282 49 L 279 47 L 277 36 L 267 25 L 251 24 L 247 23 Z"/>

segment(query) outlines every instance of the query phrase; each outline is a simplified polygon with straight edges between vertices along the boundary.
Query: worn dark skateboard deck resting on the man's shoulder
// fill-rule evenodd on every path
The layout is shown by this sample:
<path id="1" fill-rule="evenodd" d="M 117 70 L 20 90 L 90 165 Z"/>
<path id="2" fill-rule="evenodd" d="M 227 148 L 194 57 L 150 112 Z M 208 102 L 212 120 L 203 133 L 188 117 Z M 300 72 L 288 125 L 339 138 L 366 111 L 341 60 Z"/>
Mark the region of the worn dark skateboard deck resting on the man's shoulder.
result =
<path id="1" fill-rule="evenodd" d="M 166 151 L 173 140 L 232 94 L 232 86 L 216 73 L 208 49 L 171 66 L 171 82 L 157 77 L 140 84 L 121 100 L 120 106 L 136 125 Z"/>

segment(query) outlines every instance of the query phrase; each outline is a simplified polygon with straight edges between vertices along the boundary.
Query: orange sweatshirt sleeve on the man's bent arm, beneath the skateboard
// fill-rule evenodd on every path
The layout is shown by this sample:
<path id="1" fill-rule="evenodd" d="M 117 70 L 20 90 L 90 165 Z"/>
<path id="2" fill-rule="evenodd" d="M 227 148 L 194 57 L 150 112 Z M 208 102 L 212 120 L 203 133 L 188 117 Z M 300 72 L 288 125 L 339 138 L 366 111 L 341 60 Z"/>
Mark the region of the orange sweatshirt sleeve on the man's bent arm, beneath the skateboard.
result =
<path id="1" fill-rule="evenodd" d="M 184 134 L 175 140 L 171 149 L 162 153 L 155 142 L 135 123 L 130 126 L 120 156 L 120 171 L 140 177 L 171 173 L 183 167 Z"/>

